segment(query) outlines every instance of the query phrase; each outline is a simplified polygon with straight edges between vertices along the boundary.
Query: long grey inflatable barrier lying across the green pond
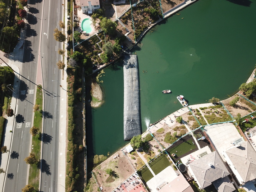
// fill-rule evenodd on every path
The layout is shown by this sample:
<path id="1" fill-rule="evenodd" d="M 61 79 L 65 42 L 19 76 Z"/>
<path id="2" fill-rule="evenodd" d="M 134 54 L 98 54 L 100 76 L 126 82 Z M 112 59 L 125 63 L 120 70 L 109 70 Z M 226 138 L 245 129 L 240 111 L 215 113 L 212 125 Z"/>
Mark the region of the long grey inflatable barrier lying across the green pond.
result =
<path id="1" fill-rule="evenodd" d="M 124 141 L 141 134 L 140 86 L 137 55 L 125 55 L 124 69 Z"/>

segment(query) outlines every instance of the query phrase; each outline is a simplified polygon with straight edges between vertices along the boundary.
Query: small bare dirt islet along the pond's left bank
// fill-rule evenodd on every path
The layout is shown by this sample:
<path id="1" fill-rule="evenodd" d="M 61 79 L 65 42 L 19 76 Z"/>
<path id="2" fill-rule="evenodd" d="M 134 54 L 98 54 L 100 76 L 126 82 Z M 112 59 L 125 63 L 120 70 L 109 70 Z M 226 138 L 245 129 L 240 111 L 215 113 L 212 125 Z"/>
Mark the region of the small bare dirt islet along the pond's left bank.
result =
<path id="1" fill-rule="evenodd" d="M 91 101 L 91 106 L 93 108 L 97 108 L 100 107 L 101 104 L 103 103 L 102 99 L 103 99 L 103 93 L 102 90 L 100 88 L 100 85 L 96 82 L 92 82 L 91 84 L 92 87 L 92 101 Z"/>

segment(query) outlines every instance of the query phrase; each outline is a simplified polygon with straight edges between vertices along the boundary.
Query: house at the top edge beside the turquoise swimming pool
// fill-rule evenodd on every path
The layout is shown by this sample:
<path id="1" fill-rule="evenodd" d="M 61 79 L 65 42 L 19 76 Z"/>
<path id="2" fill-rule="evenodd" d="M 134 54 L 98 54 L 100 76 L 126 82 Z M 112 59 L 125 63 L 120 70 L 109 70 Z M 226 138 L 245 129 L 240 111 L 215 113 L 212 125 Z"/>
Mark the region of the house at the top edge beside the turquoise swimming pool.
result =
<path id="1" fill-rule="evenodd" d="M 81 7 L 85 14 L 92 14 L 96 9 L 100 8 L 99 0 L 76 0 L 76 5 Z"/>

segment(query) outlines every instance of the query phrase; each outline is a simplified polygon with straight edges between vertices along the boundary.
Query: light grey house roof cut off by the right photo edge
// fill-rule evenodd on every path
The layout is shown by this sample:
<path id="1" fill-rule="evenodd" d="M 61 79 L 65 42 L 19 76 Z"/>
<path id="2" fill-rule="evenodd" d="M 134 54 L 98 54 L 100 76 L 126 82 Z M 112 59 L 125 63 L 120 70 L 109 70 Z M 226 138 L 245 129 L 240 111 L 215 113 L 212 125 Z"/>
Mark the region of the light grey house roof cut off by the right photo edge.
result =
<path id="1" fill-rule="evenodd" d="M 248 141 L 226 151 L 244 182 L 256 178 L 256 152 Z"/>

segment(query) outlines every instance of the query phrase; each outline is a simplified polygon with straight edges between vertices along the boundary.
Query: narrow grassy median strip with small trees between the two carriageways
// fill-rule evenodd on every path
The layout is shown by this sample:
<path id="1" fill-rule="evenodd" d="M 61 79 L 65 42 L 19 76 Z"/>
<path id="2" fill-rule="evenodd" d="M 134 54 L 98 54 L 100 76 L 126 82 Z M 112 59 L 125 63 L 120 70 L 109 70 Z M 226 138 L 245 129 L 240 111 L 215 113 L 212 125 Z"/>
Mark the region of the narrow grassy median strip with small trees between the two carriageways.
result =
<path id="1" fill-rule="evenodd" d="M 42 111 L 42 105 L 43 105 L 43 94 L 42 94 L 42 89 L 38 87 L 36 90 L 36 104 L 39 105 L 39 111 L 35 111 L 33 126 L 38 127 L 39 132 L 42 132 L 41 111 Z M 32 137 L 33 149 L 31 149 L 31 153 L 34 153 L 38 160 L 40 159 L 40 149 L 41 149 L 40 135 L 41 134 L 37 134 L 36 136 Z M 39 188 L 39 173 L 40 173 L 40 169 L 38 169 L 37 164 L 30 165 L 28 184 L 34 186 L 35 189 Z"/>

